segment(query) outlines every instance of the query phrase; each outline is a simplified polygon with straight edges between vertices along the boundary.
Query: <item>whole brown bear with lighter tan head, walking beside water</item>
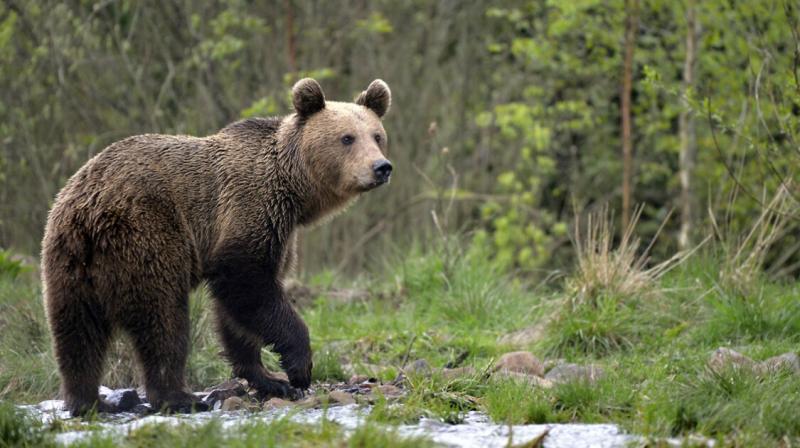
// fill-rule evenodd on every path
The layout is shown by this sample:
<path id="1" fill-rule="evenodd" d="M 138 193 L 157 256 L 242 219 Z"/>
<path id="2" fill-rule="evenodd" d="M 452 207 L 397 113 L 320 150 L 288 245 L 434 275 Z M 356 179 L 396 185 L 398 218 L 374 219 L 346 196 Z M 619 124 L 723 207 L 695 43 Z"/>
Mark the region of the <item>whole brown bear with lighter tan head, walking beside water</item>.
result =
<path id="1" fill-rule="evenodd" d="M 246 119 L 208 137 L 146 134 L 114 143 L 61 190 L 42 243 L 44 301 L 62 395 L 73 415 L 99 399 L 106 350 L 130 337 L 149 402 L 203 409 L 184 382 L 189 293 L 215 300 L 233 373 L 262 397 L 296 398 L 311 382 L 308 329 L 284 296 L 294 232 L 389 181 L 381 118 L 389 87 L 355 103 L 294 85 L 295 113 Z M 289 382 L 269 375 L 273 345 Z"/>

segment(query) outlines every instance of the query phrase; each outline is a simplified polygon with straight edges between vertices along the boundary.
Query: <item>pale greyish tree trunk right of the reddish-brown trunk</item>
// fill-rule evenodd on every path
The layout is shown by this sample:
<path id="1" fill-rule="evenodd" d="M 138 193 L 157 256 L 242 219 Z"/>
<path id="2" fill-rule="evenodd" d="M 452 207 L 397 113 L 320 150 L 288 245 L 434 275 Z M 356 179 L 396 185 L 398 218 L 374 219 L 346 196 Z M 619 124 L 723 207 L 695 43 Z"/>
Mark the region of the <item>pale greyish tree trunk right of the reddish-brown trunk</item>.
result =
<path id="1" fill-rule="evenodd" d="M 694 65 L 697 51 L 697 22 L 695 20 L 694 0 L 688 0 L 686 10 L 686 58 L 683 62 L 683 87 L 681 95 L 681 115 L 678 122 L 681 141 L 680 180 L 681 180 L 681 230 L 678 246 L 681 250 L 692 244 L 692 228 L 695 219 L 695 198 L 692 187 L 694 166 L 697 159 L 695 144 L 694 117 L 689 110 L 688 96 L 694 84 Z"/>

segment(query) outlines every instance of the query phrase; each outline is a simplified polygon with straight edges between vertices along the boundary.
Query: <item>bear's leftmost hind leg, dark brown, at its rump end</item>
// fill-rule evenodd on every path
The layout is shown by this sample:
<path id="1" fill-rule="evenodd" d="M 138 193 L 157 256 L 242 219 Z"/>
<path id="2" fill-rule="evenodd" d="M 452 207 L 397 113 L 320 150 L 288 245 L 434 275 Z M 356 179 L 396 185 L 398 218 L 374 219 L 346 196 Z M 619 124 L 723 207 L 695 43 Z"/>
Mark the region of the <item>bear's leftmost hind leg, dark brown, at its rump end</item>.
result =
<path id="1" fill-rule="evenodd" d="M 92 411 L 115 412 L 115 407 L 100 400 L 98 395 L 111 338 L 111 328 L 102 309 L 90 300 L 48 297 L 47 302 L 67 410 L 73 417 Z"/>

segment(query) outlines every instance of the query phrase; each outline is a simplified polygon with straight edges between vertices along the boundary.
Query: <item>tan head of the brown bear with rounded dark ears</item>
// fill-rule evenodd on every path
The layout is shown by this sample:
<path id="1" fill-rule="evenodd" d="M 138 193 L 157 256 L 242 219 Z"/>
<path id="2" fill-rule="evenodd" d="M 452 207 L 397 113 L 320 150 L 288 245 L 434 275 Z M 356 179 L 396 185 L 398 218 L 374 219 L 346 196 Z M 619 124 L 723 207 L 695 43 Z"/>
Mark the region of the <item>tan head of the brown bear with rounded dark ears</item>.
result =
<path id="1" fill-rule="evenodd" d="M 376 79 L 354 103 L 326 101 L 317 81 L 305 78 L 292 88 L 299 149 L 309 176 L 328 194 L 348 200 L 389 182 L 386 131 L 381 118 L 392 94 Z"/>

